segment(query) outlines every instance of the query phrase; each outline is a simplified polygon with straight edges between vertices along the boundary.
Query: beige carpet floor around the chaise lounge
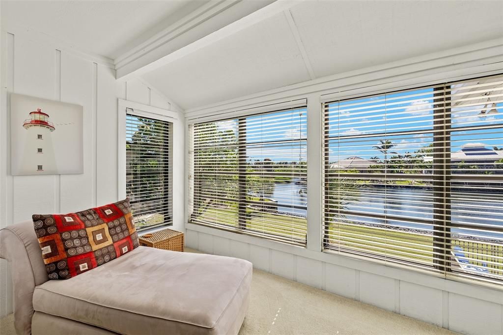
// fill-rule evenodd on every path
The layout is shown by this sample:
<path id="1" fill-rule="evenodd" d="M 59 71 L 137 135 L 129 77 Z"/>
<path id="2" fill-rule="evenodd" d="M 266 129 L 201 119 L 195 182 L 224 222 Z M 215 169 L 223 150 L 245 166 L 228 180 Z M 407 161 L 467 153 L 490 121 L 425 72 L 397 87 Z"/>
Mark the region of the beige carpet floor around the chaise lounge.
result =
<path id="1" fill-rule="evenodd" d="M 249 311 L 239 335 L 453 334 L 260 270 L 254 270 L 251 285 Z M 0 320 L 0 334 L 15 334 L 12 314 Z"/>

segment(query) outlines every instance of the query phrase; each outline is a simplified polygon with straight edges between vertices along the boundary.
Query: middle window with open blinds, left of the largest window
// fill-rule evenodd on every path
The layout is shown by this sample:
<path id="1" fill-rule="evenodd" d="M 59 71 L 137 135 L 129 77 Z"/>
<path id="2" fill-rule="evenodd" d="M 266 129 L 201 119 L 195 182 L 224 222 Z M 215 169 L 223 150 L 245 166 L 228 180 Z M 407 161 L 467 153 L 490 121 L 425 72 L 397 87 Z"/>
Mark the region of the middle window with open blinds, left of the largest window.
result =
<path id="1" fill-rule="evenodd" d="M 305 245 L 306 112 L 192 125 L 190 221 Z"/>

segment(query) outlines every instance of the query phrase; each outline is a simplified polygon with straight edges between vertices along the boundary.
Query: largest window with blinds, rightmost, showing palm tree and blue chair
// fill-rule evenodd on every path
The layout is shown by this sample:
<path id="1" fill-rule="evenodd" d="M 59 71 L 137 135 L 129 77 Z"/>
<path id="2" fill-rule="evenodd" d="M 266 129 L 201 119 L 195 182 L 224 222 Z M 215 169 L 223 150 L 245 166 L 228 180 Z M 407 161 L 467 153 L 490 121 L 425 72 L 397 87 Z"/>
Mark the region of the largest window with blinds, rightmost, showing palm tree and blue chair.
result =
<path id="1" fill-rule="evenodd" d="M 324 105 L 323 245 L 503 280 L 503 77 Z"/>

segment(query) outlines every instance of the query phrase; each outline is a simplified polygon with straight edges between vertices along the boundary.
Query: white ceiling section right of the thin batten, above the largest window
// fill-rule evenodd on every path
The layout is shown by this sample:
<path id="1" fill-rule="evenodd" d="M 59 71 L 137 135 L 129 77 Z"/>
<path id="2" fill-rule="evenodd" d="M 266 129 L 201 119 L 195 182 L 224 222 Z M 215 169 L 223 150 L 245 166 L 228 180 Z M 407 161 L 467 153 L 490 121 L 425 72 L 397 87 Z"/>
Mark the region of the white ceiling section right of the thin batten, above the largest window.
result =
<path id="1" fill-rule="evenodd" d="M 503 36 L 501 1 L 356 1 L 291 9 L 317 77 Z"/>

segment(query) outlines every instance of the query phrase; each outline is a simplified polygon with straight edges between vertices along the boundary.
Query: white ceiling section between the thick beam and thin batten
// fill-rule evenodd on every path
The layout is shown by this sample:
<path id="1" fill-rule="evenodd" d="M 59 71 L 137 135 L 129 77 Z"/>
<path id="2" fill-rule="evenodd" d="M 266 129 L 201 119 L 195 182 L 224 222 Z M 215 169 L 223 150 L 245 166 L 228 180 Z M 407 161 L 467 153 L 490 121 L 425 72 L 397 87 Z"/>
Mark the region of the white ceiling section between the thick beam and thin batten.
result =
<path id="1" fill-rule="evenodd" d="M 280 13 L 143 77 L 191 108 L 305 81 L 309 74 Z"/>

